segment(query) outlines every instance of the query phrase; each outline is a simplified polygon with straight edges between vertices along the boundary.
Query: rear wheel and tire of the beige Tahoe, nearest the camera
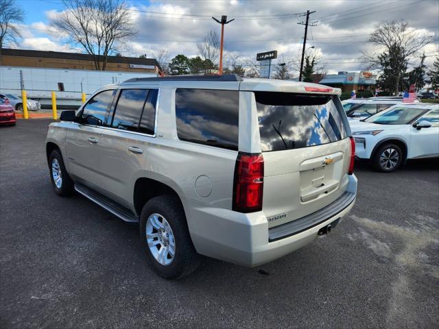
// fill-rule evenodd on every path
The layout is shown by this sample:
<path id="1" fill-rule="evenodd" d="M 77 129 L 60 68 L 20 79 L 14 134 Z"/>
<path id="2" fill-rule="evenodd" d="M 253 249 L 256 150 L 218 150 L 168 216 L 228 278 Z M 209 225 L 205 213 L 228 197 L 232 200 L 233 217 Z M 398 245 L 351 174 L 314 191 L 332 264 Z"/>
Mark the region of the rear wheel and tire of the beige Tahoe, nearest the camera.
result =
<path id="1" fill-rule="evenodd" d="M 162 195 L 150 199 L 143 206 L 139 225 L 143 252 L 159 276 L 182 278 L 200 265 L 201 256 L 193 247 L 178 197 Z"/>

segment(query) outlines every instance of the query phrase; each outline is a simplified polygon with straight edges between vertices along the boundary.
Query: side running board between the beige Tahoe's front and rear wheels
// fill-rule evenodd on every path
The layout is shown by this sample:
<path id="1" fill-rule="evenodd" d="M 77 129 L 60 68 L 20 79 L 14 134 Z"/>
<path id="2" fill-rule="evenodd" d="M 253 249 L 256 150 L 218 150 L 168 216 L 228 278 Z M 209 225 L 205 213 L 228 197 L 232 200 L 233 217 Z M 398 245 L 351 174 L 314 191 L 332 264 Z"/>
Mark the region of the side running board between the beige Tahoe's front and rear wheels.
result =
<path id="1" fill-rule="evenodd" d="M 117 204 L 105 195 L 102 195 L 101 193 L 78 183 L 75 184 L 75 191 L 84 195 L 84 197 L 86 197 L 87 199 L 91 199 L 91 201 L 95 202 L 95 204 L 98 204 L 102 208 L 108 210 L 112 213 L 112 215 L 119 217 L 123 221 L 128 221 L 130 223 L 139 223 L 139 217 L 134 215 L 130 209 L 125 208 L 120 204 Z"/>

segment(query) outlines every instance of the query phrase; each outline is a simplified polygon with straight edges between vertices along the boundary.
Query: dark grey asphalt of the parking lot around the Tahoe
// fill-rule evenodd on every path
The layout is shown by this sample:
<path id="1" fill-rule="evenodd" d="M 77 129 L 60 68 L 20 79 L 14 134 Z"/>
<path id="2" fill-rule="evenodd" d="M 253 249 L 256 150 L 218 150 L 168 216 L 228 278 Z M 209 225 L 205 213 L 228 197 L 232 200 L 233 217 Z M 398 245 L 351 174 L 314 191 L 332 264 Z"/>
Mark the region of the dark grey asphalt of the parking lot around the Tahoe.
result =
<path id="1" fill-rule="evenodd" d="M 253 269 L 205 258 L 156 276 L 138 227 L 55 195 L 51 121 L 0 127 L 0 328 L 439 328 L 439 161 L 357 164 L 331 234 Z"/>

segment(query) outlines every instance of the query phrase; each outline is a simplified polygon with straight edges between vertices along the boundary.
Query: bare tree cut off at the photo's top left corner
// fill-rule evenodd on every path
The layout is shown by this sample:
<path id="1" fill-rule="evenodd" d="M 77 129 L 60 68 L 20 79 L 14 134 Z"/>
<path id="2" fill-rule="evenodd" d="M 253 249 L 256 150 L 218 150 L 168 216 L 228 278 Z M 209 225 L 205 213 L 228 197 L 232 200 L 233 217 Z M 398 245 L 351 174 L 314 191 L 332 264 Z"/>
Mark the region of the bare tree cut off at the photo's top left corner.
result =
<path id="1" fill-rule="evenodd" d="M 23 22 L 23 10 L 15 0 L 0 0 L 0 56 L 5 42 L 16 44 L 21 34 L 16 24 Z"/>

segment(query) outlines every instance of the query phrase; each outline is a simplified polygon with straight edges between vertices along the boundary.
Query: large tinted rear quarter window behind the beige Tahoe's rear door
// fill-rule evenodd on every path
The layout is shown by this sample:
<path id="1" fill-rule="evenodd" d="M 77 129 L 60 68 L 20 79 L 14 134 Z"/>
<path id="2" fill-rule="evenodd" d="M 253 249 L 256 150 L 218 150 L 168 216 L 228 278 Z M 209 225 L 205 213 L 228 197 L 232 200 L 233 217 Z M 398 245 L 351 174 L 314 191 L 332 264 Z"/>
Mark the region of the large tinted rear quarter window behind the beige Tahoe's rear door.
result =
<path id="1" fill-rule="evenodd" d="M 177 134 L 182 141 L 238 149 L 237 90 L 177 89 Z"/>

